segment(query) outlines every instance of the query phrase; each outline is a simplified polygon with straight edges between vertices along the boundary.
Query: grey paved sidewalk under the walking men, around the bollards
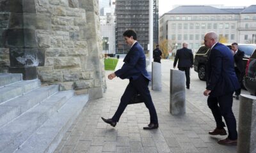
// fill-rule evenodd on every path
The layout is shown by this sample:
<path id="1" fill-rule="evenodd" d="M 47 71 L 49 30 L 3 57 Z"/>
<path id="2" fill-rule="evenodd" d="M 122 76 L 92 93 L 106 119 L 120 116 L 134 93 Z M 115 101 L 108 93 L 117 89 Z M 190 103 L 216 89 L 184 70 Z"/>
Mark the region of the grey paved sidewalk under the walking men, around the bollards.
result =
<path id="1" fill-rule="evenodd" d="M 104 98 L 89 101 L 76 122 L 67 131 L 56 152 L 205 152 L 231 153 L 236 146 L 218 145 L 226 136 L 209 136 L 215 123 L 202 92 L 205 82 L 191 69 L 191 89 L 186 91 L 186 115 L 169 113 L 169 86 L 171 61 L 162 60 L 163 91 L 150 90 L 159 118 L 159 129 L 143 130 L 149 122 L 144 104 L 127 106 L 115 128 L 100 117 L 112 117 L 128 80 L 108 80 Z M 106 76 L 112 71 L 106 71 Z M 244 92 L 244 91 L 243 91 Z M 238 114 L 239 101 L 234 100 Z"/>

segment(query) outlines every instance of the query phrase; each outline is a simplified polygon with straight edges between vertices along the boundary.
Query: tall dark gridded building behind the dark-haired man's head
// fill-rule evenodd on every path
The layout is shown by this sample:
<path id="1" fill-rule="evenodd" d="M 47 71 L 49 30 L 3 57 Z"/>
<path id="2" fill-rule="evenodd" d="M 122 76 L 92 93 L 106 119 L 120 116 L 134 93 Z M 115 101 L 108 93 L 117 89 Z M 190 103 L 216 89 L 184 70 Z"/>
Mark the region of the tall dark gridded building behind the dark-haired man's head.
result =
<path id="1" fill-rule="evenodd" d="M 154 8 L 154 43 L 158 38 L 158 0 L 153 1 Z M 148 10 L 149 0 L 116 0 L 116 54 L 125 54 L 129 46 L 124 42 L 123 33 L 127 29 L 134 29 L 137 40 L 140 42 L 144 52 L 148 52 Z"/>

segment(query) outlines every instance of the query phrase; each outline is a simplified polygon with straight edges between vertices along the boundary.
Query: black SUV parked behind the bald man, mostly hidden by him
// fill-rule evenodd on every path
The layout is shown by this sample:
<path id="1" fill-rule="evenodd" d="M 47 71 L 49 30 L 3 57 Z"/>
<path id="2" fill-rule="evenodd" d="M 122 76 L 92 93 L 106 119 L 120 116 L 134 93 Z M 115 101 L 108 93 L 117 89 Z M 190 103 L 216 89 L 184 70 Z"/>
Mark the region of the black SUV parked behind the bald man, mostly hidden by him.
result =
<path id="1" fill-rule="evenodd" d="M 231 44 L 225 44 L 231 49 Z M 252 55 L 253 51 L 256 49 L 256 44 L 238 44 L 239 50 L 244 52 L 244 69 L 249 57 Z M 195 54 L 194 60 L 194 70 L 198 73 L 198 78 L 200 80 L 205 80 L 205 66 L 207 62 L 207 57 L 209 56 L 209 48 L 202 45 Z"/>

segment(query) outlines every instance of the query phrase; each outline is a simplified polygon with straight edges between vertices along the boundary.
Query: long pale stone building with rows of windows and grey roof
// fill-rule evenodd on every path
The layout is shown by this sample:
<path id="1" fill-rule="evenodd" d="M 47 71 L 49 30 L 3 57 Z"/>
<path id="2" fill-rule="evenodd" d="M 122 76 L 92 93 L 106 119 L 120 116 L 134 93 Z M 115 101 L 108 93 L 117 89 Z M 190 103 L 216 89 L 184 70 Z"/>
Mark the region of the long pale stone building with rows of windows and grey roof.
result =
<path id="1" fill-rule="evenodd" d="M 168 40 L 170 50 L 182 42 L 197 50 L 204 34 L 215 31 L 222 42 L 256 43 L 256 5 L 248 8 L 178 6 L 159 18 L 159 41 Z"/>

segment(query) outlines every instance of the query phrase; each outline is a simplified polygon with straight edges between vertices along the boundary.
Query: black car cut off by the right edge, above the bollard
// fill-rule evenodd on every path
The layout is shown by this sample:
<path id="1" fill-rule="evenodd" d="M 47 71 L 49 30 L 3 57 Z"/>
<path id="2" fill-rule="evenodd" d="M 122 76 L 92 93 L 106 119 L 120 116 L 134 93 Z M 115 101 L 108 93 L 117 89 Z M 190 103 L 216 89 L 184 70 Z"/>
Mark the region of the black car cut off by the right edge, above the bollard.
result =
<path id="1" fill-rule="evenodd" d="M 256 50 L 254 50 L 246 64 L 245 77 L 243 80 L 244 87 L 250 94 L 256 96 Z"/>

